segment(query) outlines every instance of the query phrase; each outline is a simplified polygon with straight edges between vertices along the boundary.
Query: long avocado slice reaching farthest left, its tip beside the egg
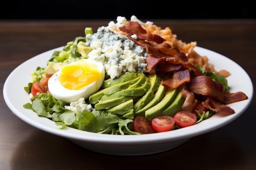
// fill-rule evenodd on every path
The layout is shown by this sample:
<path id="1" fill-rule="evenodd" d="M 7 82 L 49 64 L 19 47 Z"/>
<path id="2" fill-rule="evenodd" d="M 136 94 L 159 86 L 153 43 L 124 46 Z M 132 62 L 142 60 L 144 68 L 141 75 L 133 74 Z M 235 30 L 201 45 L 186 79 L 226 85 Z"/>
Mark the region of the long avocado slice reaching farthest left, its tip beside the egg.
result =
<path id="1" fill-rule="evenodd" d="M 103 95 L 111 95 L 113 93 L 116 93 L 118 91 L 121 91 L 123 89 L 126 89 L 128 88 L 130 85 L 132 84 L 135 84 L 141 77 L 136 77 L 135 79 L 132 79 L 130 81 L 127 81 L 127 82 L 122 82 L 122 83 L 119 83 L 119 84 L 115 84 L 114 86 L 110 86 L 108 88 L 104 88 L 92 95 L 89 96 L 89 103 L 90 104 L 96 104 L 98 103 L 99 101 L 101 101 L 101 97 Z"/>

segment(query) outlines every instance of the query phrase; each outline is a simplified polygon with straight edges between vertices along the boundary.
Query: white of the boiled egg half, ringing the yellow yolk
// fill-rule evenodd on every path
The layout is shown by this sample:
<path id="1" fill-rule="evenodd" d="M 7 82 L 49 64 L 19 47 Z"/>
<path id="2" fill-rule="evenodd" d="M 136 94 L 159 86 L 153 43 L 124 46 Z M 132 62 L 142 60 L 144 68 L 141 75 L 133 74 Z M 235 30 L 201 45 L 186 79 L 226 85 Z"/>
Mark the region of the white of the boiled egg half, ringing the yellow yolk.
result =
<path id="1" fill-rule="evenodd" d="M 61 68 L 61 70 L 57 71 L 48 80 L 49 92 L 52 94 L 52 96 L 55 99 L 62 100 L 66 103 L 71 103 L 71 102 L 78 101 L 81 97 L 87 99 L 90 95 L 92 95 L 93 93 L 99 90 L 105 78 L 105 69 L 103 64 L 101 62 L 91 60 L 91 59 L 83 59 L 83 60 L 89 64 L 95 64 L 98 67 L 99 72 L 103 74 L 103 77 L 102 77 L 103 79 L 99 78 L 98 81 L 94 81 L 88 86 L 85 86 L 78 90 L 70 90 L 62 86 L 59 80 L 60 72 L 62 70 Z M 72 64 L 74 63 L 68 64 L 67 66 Z"/>

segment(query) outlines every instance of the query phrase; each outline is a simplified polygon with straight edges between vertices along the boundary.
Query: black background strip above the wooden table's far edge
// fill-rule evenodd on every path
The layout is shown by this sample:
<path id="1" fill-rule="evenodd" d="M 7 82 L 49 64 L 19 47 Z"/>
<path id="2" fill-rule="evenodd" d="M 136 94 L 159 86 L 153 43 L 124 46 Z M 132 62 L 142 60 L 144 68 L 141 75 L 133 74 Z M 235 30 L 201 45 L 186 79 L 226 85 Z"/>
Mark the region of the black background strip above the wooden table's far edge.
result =
<path id="1" fill-rule="evenodd" d="M 256 18 L 252 2 L 166 0 L 41 0 L 4 1 L 0 20 L 20 19 L 249 19 Z"/>

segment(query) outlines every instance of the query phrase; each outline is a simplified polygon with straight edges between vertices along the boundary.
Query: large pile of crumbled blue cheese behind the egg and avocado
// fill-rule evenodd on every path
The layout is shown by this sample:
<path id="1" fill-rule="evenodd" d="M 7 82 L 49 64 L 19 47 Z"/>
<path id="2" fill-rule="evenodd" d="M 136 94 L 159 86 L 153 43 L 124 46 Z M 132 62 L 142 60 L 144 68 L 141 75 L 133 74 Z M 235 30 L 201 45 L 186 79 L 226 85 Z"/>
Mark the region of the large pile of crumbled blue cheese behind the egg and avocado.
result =
<path id="1" fill-rule="evenodd" d="M 135 44 L 126 35 L 114 33 L 110 26 L 101 26 L 97 33 L 87 34 L 86 46 L 93 49 L 88 57 L 103 63 L 106 77 L 114 79 L 124 73 L 146 70 L 146 48 Z"/>

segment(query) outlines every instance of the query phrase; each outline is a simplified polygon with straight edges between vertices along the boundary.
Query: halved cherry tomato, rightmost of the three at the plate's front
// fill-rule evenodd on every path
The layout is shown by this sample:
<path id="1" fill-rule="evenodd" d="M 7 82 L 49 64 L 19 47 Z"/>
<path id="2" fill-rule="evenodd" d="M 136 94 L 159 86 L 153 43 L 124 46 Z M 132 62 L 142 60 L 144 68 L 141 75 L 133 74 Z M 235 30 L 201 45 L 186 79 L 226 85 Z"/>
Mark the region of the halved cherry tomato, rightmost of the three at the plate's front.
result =
<path id="1" fill-rule="evenodd" d="M 196 121 L 196 115 L 188 111 L 179 111 L 173 118 L 175 119 L 175 124 L 181 128 L 191 126 Z"/>

